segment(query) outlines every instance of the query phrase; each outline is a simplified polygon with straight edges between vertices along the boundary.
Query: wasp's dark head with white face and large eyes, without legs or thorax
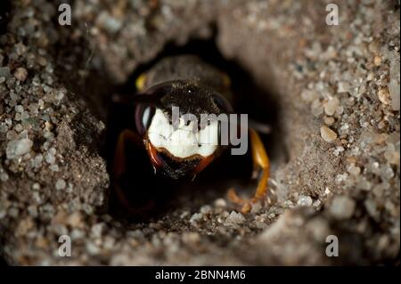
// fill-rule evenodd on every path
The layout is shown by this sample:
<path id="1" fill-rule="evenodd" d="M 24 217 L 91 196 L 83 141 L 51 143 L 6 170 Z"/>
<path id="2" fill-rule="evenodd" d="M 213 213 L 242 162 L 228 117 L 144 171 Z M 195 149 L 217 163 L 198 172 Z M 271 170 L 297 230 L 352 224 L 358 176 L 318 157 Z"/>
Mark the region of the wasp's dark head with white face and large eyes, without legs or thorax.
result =
<path id="1" fill-rule="evenodd" d="M 194 176 L 217 157 L 220 114 L 228 101 L 200 82 L 176 80 L 155 85 L 135 110 L 151 163 L 172 178 Z"/>

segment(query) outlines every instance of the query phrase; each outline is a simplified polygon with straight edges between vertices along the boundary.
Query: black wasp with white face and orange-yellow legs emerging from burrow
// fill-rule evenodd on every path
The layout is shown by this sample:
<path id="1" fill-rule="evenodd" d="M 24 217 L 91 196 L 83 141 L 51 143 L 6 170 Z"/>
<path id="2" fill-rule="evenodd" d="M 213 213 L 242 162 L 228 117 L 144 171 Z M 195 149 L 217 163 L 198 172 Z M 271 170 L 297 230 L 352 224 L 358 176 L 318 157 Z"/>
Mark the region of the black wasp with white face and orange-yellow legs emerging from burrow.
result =
<path id="1" fill-rule="evenodd" d="M 135 129 L 124 129 L 119 133 L 112 163 L 113 187 L 125 205 L 127 200 L 119 178 L 126 171 L 127 142 L 144 147 L 155 172 L 172 179 L 194 179 L 231 145 L 219 143 L 221 127 L 218 122 L 194 126 L 190 121 L 188 125 L 184 116 L 191 114 L 197 118 L 195 121 L 202 121 L 202 114 L 235 113 L 230 78 L 195 55 L 162 59 L 137 77 L 135 85 L 137 93 L 134 95 L 115 96 L 115 101 L 135 107 Z M 174 108 L 178 110 L 176 125 Z M 193 132 L 192 128 L 197 131 Z M 264 199 L 270 171 L 269 158 L 258 131 L 248 127 L 247 135 L 258 187 L 251 199 L 242 199 L 233 189 L 228 191 L 228 198 L 242 213 L 250 212 L 258 200 Z"/>

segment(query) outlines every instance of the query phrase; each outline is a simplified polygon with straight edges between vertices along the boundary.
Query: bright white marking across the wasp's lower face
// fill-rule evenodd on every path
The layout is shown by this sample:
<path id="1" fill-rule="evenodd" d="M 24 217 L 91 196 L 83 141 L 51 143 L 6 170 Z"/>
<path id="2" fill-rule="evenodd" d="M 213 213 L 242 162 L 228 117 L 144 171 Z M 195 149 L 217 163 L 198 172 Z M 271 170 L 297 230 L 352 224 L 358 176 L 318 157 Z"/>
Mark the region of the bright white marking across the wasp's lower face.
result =
<path id="1" fill-rule="evenodd" d="M 149 126 L 149 140 L 154 147 L 165 148 L 176 158 L 188 158 L 195 154 L 208 157 L 217 149 L 218 121 L 211 121 L 209 126 L 193 133 L 194 123 L 191 121 L 185 126 L 184 119 L 179 118 L 175 130 L 169 123 L 167 114 L 157 109 Z M 195 129 L 198 127 L 195 126 Z"/>

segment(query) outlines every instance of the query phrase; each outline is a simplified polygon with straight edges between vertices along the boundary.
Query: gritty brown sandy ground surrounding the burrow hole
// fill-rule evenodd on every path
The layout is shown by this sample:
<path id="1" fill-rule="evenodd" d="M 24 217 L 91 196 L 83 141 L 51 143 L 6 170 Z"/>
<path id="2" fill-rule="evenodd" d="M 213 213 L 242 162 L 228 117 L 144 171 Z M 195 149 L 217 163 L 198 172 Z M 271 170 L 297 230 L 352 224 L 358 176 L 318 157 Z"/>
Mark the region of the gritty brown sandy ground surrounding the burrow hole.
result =
<path id="1" fill-rule="evenodd" d="M 0 254 L 8 264 L 399 264 L 399 4 L 339 1 L 12 1 L 0 32 Z M 4 20 L 5 19 L 5 20 Z M 113 85 L 167 43 L 209 38 L 278 101 L 287 158 L 270 202 L 221 192 L 147 223 L 107 212 Z M 274 133 L 273 133 L 274 134 Z M 72 256 L 58 254 L 70 235 Z M 336 235 L 340 256 L 325 255 Z"/>

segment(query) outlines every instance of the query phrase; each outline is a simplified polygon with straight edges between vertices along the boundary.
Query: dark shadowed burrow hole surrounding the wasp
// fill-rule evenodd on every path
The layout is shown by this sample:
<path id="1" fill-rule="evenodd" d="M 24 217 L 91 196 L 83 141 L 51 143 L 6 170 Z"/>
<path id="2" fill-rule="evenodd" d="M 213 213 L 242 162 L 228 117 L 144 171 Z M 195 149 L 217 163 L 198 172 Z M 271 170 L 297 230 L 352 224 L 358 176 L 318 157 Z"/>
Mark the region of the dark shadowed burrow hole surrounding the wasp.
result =
<path id="1" fill-rule="evenodd" d="M 249 118 L 266 124 L 271 128 L 270 134 L 262 134 L 262 140 L 271 159 L 272 169 L 286 161 L 285 150 L 282 149 L 282 133 L 280 132 L 280 108 L 275 96 L 256 85 L 247 70 L 242 69 L 235 61 L 226 60 L 219 52 L 214 38 L 209 40 L 192 39 L 187 45 L 168 44 L 152 61 L 139 66 L 124 85 L 116 88 L 115 93 L 134 95 L 135 78 L 150 69 L 160 59 L 180 54 L 195 54 L 203 61 L 225 71 L 231 78 L 235 97 L 234 109 L 237 113 L 246 113 Z M 110 111 L 107 121 L 107 137 L 105 157 L 108 170 L 114 158 L 119 133 L 125 129 L 135 129 L 134 108 L 127 104 L 115 103 L 110 100 Z M 160 174 L 155 175 L 148 155 L 142 146 L 127 145 L 127 174 L 124 176 L 123 191 L 133 207 L 146 208 L 138 215 L 141 220 L 160 217 L 169 210 L 188 207 L 194 209 L 204 204 L 210 204 L 217 198 L 225 198 L 230 187 L 244 194 L 252 194 L 256 182 L 250 181 L 252 163 L 250 153 L 244 156 L 230 156 L 229 153 L 214 161 L 199 174 L 195 181 L 173 181 Z M 110 175 L 111 176 L 111 175 Z M 110 189 L 110 214 L 126 218 L 121 210 L 113 185 Z M 136 218 L 134 218 L 136 219 Z"/>

